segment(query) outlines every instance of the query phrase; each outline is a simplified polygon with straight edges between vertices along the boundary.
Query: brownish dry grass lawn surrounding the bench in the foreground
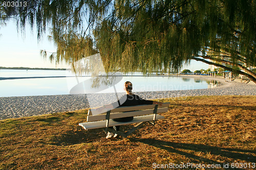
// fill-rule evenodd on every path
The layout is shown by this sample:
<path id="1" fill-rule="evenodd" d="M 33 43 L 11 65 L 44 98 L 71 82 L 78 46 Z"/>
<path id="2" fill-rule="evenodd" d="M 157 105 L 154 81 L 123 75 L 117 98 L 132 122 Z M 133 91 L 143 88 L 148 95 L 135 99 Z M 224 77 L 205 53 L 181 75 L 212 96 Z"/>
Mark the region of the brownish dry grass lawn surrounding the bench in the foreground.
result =
<path id="1" fill-rule="evenodd" d="M 188 162 L 229 163 L 231 168 L 230 163 L 256 163 L 255 96 L 161 101 L 171 103 L 162 114 L 166 118 L 126 139 L 105 139 L 101 129 L 83 130 L 78 123 L 86 121 L 87 110 L 1 120 L 0 169 L 153 169 L 153 163 Z"/>

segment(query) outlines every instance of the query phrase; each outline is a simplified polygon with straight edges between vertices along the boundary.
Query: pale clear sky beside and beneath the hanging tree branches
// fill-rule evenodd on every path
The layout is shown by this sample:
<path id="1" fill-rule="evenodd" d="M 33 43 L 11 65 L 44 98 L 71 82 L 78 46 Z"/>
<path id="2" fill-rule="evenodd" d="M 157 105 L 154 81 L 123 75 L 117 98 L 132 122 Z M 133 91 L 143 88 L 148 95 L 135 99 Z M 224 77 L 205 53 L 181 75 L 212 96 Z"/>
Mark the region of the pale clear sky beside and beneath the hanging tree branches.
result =
<path id="1" fill-rule="evenodd" d="M 51 63 L 40 55 L 40 50 L 55 52 L 56 47 L 47 38 L 46 34 L 40 41 L 37 40 L 36 29 L 25 29 L 25 36 L 17 31 L 14 21 L 6 22 L 6 26 L 0 26 L 0 66 L 3 67 L 31 67 L 31 68 L 70 68 L 66 63 Z M 181 70 L 191 71 L 208 69 L 209 65 L 200 61 L 191 61 Z"/>

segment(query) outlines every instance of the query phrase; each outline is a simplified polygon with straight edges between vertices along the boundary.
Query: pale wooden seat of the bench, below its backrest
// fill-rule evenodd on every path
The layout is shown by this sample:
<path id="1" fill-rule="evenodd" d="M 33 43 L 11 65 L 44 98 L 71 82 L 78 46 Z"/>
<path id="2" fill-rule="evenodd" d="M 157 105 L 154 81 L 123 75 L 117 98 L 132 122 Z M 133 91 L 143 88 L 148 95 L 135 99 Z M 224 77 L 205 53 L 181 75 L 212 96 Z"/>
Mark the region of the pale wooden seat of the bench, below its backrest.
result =
<path id="1" fill-rule="evenodd" d="M 112 127 L 112 126 L 119 126 L 119 125 L 134 124 L 139 122 L 148 122 L 148 121 L 152 121 L 153 117 L 154 117 L 154 114 L 134 117 L 134 119 L 129 122 L 115 122 L 113 120 L 110 120 L 109 126 Z M 157 114 L 156 120 L 159 120 L 162 118 L 164 118 L 164 116 Z M 101 120 L 97 122 L 80 123 L 79 126 L 83 127 L 85 130 L 104 128 L 106 126 L 106 120 Z"/>

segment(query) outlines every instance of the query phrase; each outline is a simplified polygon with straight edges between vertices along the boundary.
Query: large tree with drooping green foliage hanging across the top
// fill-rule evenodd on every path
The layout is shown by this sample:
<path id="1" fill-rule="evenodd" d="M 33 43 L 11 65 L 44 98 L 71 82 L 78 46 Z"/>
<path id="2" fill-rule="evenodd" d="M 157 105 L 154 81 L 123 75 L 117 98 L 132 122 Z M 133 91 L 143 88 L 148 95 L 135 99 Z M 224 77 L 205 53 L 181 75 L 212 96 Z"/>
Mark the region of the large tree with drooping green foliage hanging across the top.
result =
<path id="1" fill-rule="evenodd" d="M 248 76 L 256 65 L 254 0 L 28 1 L 6 8 L 19 25 L 50 27 L 52 60 L 100 53 L 106 71 L 170 72 L 202 61 Z M 45 52 L 43 54 L 46 55 Z"/>

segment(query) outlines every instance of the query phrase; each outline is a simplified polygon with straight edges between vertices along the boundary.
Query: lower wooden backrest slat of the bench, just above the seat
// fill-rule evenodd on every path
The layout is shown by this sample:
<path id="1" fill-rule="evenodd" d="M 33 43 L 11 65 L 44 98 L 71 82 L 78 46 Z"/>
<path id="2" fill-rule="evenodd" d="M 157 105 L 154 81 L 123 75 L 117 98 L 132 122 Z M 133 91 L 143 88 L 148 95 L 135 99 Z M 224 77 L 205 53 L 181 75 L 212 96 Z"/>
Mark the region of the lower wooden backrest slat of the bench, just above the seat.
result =
<path id="1" fill-rule="evenodd" d="M 157 113 L 163 113 L 167 112 L 168 108 L 158 108 Z M 154 109 L 148 109 L 148 110 L 138 110 L 138 111 L 131 111 L 131 112 L 121 112 L 121 113 L 111 113 L 110 119 L 113 118 L 120 118 L 120 117 L 127 117 L 127 116 L 140 116 L 145 114 L 153 114 Z M 92 115 L 87 116 L 87 122 L 93 122 L 97 120 L 104 120 L 106 117 L 106 114 L 98 114 L 98 115 Z"/>

